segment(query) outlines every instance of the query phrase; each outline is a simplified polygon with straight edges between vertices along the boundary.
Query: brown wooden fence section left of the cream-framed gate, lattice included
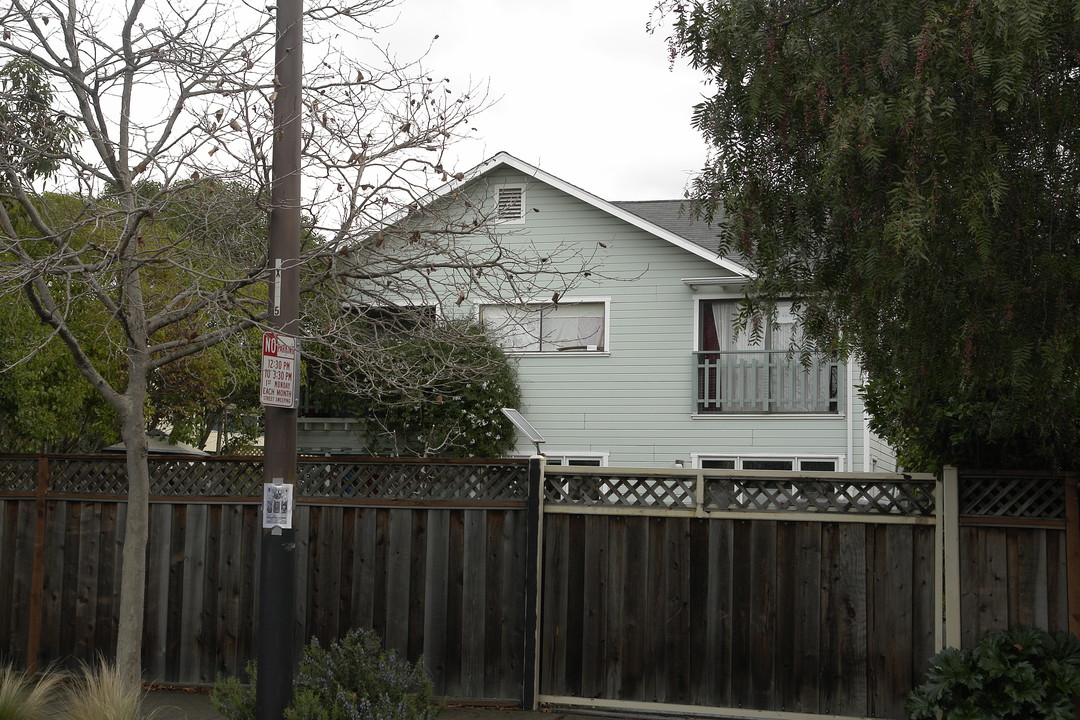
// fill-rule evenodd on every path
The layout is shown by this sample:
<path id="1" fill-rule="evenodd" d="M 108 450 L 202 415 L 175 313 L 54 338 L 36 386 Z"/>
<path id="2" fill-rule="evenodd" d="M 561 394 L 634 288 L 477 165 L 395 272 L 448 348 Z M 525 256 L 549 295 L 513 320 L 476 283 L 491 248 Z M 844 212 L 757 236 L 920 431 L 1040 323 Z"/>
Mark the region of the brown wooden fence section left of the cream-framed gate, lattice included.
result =
<path id="1" fill-rule="evenodd" d="M 255 654 L 259 463 L 150 462 L 146 676 L 239 675 Z M 440 695 L 519 702 L 526 471 L 524 461 L 302 460 L 297 651 L 369 627 L 401 654 L 422 654 Z M 114 652 L 123 474 L 116 459 L 0 460 L 0 540 L 13 548 L 0 554 L 0 657 Z"/>

